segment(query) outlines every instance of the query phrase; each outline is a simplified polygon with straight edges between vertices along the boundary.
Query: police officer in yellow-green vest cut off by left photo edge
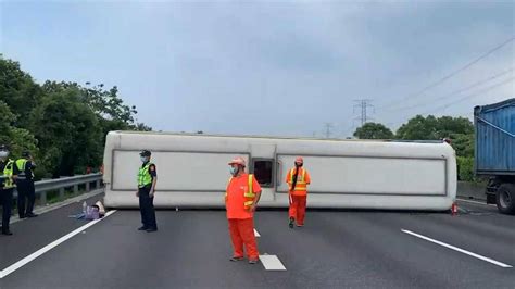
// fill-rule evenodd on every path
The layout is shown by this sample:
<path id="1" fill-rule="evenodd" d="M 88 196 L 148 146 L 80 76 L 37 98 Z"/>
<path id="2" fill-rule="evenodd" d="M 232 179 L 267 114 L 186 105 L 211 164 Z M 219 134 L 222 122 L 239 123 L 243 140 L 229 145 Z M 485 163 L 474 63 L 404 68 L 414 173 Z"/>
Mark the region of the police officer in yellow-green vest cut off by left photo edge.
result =
<path id="1" fill-rule="evenodd" d="M 11 210 L 13 204 L 14 179 L 17 176 L 17 167 L 14 161 L 9 159 L 9 149 L 5 144 L 0 146 L 0 202 L 2 204 L 2 235 L 13 235 L 9 229 Z"/>

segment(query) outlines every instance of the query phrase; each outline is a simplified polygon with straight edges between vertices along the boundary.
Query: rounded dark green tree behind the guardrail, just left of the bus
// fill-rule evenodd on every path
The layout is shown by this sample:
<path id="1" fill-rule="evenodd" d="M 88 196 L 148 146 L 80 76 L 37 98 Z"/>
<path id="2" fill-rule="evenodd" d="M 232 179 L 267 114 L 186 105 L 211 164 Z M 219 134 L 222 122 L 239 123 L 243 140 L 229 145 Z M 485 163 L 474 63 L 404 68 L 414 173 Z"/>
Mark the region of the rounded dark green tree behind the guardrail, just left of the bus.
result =
<path id="1" fill-rule="evenodd" d="M 78 88 L 51 89 L 34 112 L 33 131 L 43 151 L 42 163 L 54 177 L 101 163 L 103 143 L 98 117 L 79 99 Z"/>

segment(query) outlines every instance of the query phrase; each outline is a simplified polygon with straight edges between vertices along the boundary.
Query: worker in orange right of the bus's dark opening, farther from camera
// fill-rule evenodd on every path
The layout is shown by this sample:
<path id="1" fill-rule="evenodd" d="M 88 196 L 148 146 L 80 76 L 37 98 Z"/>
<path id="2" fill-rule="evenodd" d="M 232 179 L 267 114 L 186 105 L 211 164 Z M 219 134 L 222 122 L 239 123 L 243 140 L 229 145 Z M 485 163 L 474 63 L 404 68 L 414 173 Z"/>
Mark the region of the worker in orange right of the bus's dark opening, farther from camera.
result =
<path id="1" fill-rule="evenodd" d="M 296 159 L 296 167 L 288 172 L 286 183 L 289 186 L 289 227 L 293 228 L 293 223 L 297 222 L 298 227 L 304 226 L 305 206 L 307 203 L 307 185 L 311 184 L 310 174 L 302 166 L 304 160 L 301 156 Z"/>

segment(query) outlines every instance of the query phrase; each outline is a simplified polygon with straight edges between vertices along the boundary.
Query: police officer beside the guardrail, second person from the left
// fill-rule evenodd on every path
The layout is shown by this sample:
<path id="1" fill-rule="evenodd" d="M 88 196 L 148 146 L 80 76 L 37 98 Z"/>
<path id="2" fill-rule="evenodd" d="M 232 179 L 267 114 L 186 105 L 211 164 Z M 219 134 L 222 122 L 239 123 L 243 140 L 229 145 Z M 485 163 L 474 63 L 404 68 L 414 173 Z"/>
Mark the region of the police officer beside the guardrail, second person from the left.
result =
<path id="1" fill-rule="evenodd" d="M 17 213 L 20 218 L 36 217 L 34 210 L 34 202 L 36 200 L 36 192 L 34 189 L 34 173 L 33 169 L 36 164 L 33 161 L 30 152 L 24 151 L 22 159 L 16 160 L 16 168 L 20 174 L 16 178 L 17 188 Z M 27 203 L 25 201 L 28 201 Z"/>

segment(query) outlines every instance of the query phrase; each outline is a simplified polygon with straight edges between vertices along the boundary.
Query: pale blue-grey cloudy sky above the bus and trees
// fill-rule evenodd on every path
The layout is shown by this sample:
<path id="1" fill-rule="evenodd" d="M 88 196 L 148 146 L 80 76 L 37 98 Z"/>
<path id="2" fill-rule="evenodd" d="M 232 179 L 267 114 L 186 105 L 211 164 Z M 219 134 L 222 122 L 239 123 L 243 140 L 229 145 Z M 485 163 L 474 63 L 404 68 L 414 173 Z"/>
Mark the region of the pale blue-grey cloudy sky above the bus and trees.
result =
<path id="1" fill-rule="evenodd" d="M 0 0 L 4 58 L 117 86 L 163 131 L 348 137 L 362 99 L 393 130 L 472 117 L 515 97 L 514 37 L 513 1 Z"/>

